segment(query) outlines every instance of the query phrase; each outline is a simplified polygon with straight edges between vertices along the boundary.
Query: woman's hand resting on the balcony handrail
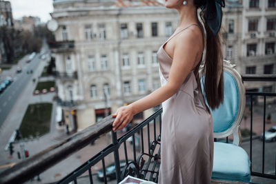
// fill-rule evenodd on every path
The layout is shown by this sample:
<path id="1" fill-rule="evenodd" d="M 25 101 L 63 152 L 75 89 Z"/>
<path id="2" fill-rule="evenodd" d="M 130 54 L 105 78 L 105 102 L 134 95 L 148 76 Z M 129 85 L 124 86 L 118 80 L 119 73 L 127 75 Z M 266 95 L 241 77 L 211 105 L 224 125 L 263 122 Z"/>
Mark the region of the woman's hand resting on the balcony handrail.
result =
<path id="1" fill-rule="evenodd" d="M 132 109 L 132 105 L 123 106 L 112 114 L 112 117 L 116 117 L 115 121 L 112 123 L 112 130 L 117 132 L 118 130 L 122 130 L 130 121 L 132 120 L 133 116 L 135 115 L 134 110 Z"/>

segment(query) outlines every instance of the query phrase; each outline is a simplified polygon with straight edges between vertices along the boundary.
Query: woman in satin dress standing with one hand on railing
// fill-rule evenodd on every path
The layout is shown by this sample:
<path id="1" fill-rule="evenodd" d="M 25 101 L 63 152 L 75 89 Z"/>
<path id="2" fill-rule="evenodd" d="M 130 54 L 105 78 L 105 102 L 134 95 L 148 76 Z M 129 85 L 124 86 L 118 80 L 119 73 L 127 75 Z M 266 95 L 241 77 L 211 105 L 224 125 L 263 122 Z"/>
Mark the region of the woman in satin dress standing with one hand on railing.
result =
<path id="1" fill-rule="evenodd" d="M 224 1 L 166 0 L 165 5 L 178 10 L 179 25 L 157 53 L 161 88 L 119 108 L 113 115 L 113 131 L 126 127 L 135 114 L 162 103 L 158 183 L 211 183 L 213 119 L 209 108 L 217 108 L 224 98 L 221 42 L 217 34 Z M 206 30 L 203 74 L 208 106 L 199 81 L 205 41 L 198 8 Z"/>

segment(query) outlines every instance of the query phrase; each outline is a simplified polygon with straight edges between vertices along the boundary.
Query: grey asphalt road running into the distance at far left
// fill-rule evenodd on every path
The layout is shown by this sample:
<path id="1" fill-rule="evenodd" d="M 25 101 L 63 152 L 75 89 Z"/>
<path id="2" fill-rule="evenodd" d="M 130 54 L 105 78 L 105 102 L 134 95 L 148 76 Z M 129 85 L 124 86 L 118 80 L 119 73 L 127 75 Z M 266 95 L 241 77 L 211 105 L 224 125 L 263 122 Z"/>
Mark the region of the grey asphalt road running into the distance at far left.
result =
<path id="1" fill-rule="evenodd" d="M 24 65 L 22 67 L 22 72 L 14 74 L 14 81 L 2 94 L 0 94 L 0 127 L 10 113 L 10 110 L 12 110 L 12 107 L 17 101 L 22 90 L 25 88 L 30 79 L 32 79 L 32 74 L 37 69 L 39 62 L 41 61 L 41 59 L 39 59 L 39 55 L 40 54 L 37 54 L 30 63 L 23 63 Z M 28 70 L 32 70 L 32 74 L 27 74 Z"/>

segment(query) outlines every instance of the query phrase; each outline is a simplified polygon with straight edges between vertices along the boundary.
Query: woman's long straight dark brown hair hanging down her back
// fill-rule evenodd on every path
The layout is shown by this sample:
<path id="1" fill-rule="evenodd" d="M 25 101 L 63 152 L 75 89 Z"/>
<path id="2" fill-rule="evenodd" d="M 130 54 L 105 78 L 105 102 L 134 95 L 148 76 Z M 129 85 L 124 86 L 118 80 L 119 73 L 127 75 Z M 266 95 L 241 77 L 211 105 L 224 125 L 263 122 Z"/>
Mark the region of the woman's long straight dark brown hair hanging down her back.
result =
<path id="1" fill-rule="evenodd" d="M 206 0 L 194 0 L 196 8 L 206 5 Z M 206 10 L 206 9 L 205 9 Z M 203 23 L 206 31 L 206 55 L 202 74 L 204 75 L 205 98 L 210 109 L 214 110 L 224 101 L 224 75 L 220 31 L 215 36 L 206 21 L 203 10 Z M 200 87 L 199 87 L 200 88 Z"/>

